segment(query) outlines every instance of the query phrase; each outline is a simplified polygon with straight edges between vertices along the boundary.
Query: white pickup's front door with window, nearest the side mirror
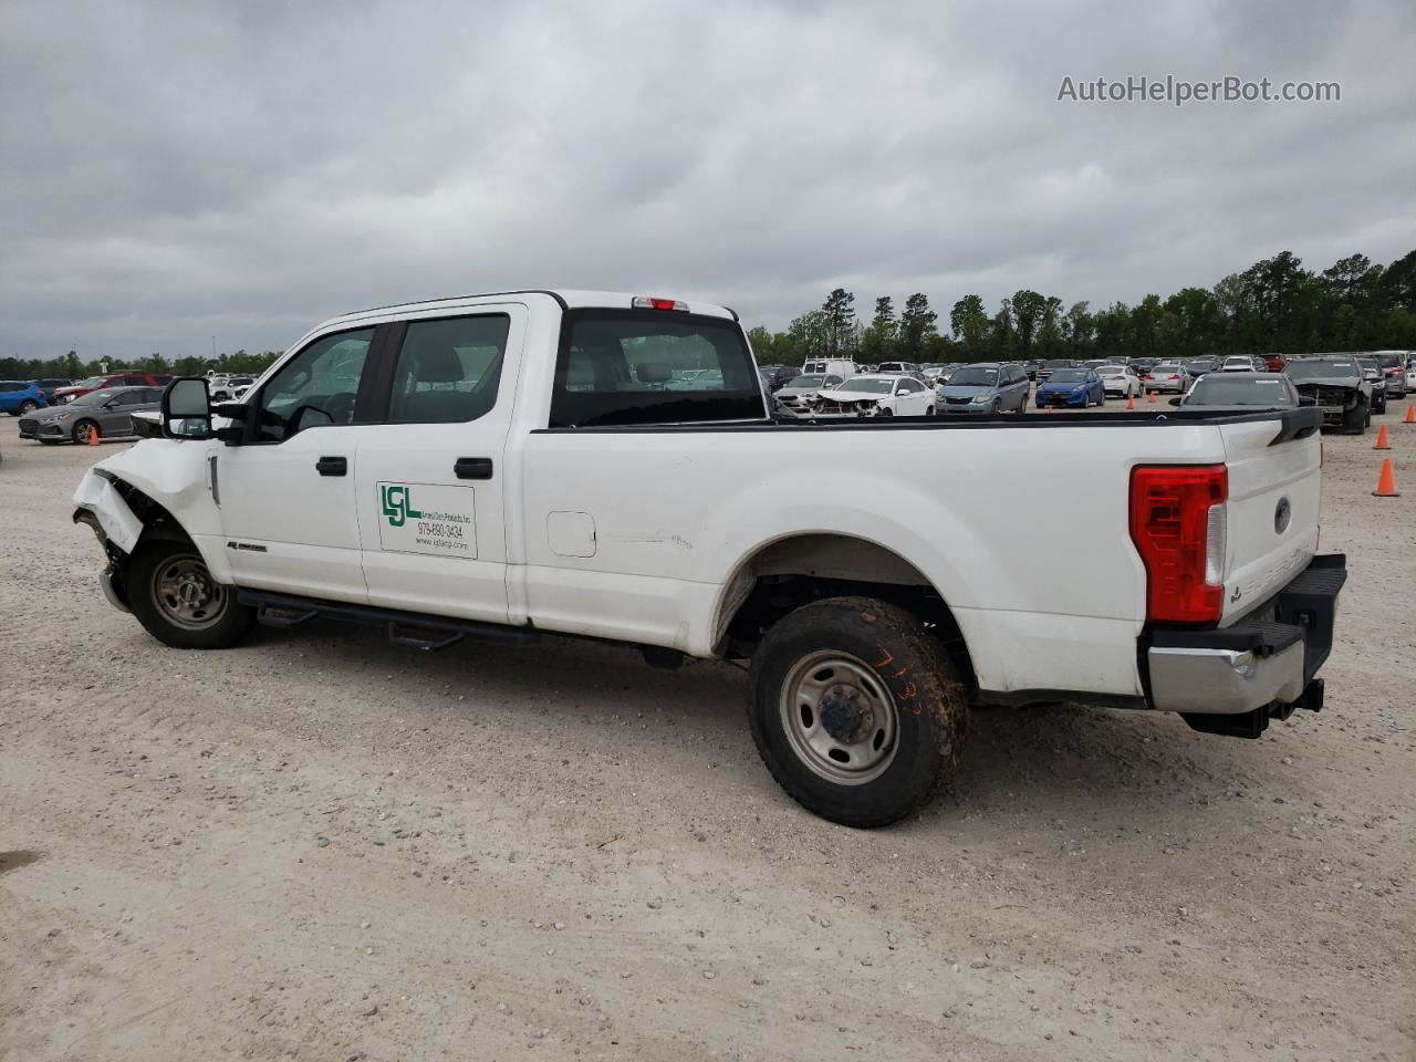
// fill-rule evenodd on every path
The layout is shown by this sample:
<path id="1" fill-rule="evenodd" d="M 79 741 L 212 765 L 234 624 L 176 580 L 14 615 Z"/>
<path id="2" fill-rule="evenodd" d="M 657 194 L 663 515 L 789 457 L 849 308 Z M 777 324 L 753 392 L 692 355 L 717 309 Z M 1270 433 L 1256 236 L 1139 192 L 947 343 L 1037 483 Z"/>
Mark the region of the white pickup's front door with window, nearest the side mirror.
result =
<path id="1" fill-rule="evenodd" d="M 312 340 L 248 402 L 241 446 L 217 453 L 214 496 L 238 586 L 364 602 L 354 484 L 372 327 Z"/>

